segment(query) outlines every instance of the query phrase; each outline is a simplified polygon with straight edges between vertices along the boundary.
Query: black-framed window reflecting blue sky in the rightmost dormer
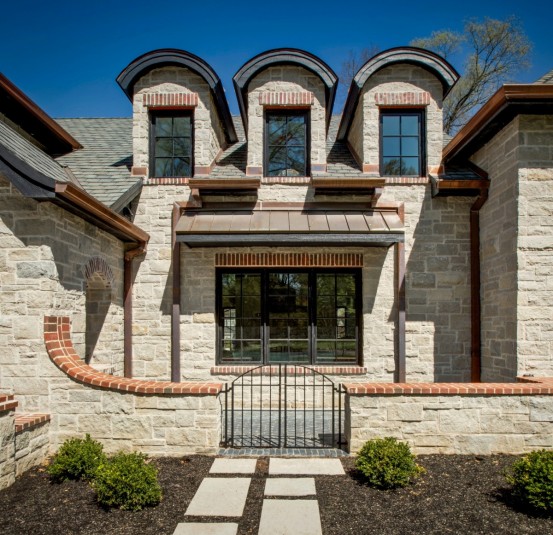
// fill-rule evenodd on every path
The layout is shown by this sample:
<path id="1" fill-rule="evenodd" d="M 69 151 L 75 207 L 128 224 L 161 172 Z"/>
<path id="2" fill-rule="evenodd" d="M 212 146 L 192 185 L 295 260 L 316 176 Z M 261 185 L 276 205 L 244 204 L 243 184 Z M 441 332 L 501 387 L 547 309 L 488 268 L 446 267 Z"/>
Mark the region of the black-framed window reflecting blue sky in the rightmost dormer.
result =
<path id="1" fill-rule="evenodd" d="M 419 110 L 381 110 L 381 175 L 423 175 L 422 124 L 422 112 Z"/>

